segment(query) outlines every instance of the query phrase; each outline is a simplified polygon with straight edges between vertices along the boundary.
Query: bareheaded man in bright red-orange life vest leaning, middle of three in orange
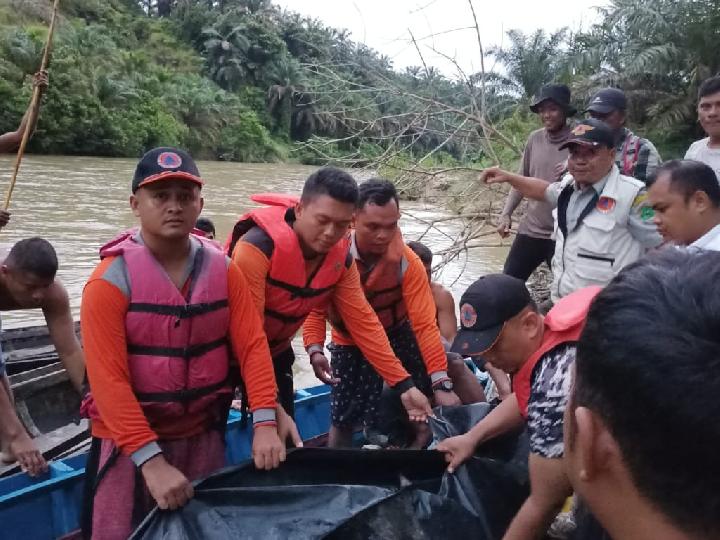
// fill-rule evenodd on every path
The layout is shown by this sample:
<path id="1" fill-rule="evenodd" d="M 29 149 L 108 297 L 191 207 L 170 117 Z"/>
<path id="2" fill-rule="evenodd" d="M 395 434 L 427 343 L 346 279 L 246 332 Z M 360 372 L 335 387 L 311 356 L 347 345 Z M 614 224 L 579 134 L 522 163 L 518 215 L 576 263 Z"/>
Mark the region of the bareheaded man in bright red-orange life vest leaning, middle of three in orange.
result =
<path id="1" fill-rule="evenodd" d="M 294 395 L 291 340 L 313 309 L 326 309 L 332 302 L 368 361 L 401 394 L 410 419 L 425 421 L 432 413 L 430 403 L 393 354 L 350 254 L 347 233 L 357 199 L 352 176 L 332 167 L 320 169 L 307 179 L 296 204 L 281 200 L 241 217 L 228 252 L 264 316 L 280 403 L 288 413 L 293 413 Z"/>

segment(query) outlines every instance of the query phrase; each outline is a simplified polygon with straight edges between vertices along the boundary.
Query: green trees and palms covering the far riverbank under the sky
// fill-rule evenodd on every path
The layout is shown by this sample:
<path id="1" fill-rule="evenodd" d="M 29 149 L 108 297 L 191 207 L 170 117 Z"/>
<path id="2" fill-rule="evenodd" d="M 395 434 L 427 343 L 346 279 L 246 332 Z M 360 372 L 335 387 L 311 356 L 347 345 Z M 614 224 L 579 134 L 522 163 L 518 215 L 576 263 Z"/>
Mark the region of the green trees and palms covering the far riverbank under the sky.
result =
<path id="1" fill-rule="evenodd" d="M 611 0 L 585 32 L 510 30 L 488 51 L 497 72 L 454 80 L 432 66 L 396 71 L 346 31 L 270 0 L 63 0 L 61 10 L 38 152 L 173 144 L 208 159 L 381 162 L 389 175 L 514 167 L 538 127 L 528 100 L 562 81 L 578 104 L 623 88 L 631 127 L 669 157 L 700 135 L 697 86 L 720 71 L 714 0 Z M 22 117 L 47 18 L 43 2 L 0 0 L 0 130 Z"/>

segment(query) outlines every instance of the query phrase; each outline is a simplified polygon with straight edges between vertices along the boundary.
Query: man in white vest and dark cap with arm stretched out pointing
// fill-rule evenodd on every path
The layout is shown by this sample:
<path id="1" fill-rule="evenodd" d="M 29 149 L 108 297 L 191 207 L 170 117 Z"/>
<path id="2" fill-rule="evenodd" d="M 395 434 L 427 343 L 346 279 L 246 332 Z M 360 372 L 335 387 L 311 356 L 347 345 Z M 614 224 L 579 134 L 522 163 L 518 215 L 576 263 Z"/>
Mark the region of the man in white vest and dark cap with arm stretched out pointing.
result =
<path id="1" fill-rule="evenodd" d="M 579 123 L 562 146 L 570 151 L 560 182 L 486 169 L 481 180 L 507 182 L 528 198 L 555 208 L 555 255 L 551 299 L 590 285 L 607 285 L 662 238 L 653 222 L 645 184 L 620 174 L 615 138 L 600 120 Z M 562 148 L 561 147 L 561 148 Z"/>

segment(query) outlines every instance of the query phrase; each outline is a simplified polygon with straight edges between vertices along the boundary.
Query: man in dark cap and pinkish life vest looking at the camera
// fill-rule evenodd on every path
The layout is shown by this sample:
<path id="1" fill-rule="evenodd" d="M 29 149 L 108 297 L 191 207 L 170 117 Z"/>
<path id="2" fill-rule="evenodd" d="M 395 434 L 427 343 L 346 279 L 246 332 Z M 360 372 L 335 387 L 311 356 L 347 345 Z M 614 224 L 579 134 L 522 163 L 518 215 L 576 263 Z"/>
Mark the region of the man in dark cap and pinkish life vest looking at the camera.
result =
<path id="1" fill-rule="evenodd" d="M 253 411 L 255 465 L 284 460 L 278 429 L 299 443 L 277 406 L 270 351 L 242 272 L 190 234 L 202 184 L 185 152 L 145 154 L 130 197 L 140 230 L 101 248 L 83 292 L 91 389 L 83 408 L 93 433 L 86 536 L 127 538 L 155 502 L 183 506 L 190 482 L 224 465 L 231 363 Z"/>

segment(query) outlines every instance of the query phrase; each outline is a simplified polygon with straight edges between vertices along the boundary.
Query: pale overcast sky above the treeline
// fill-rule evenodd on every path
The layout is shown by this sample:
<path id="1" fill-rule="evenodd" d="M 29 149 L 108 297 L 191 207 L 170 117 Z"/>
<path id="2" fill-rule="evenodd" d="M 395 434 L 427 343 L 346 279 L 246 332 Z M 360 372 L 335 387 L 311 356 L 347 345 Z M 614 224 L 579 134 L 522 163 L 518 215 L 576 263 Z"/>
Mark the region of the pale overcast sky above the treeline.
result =
<path id="1" fill-rule="evenodd" d="M 456 73 L 452 63 L 432 48 L 454 57 L 463 70 L 479 70 L 475 30 L 467 0 L 274 0 L 292 11 L 316 17 L 327 25 L 345 28 L 354 41 L 366 43 L 389 56 L 396 69 L 420 65 L 410 40 L 412 31 L 429 65 L 448 75 Z M 562 26 L 587 28 L 597 19 L 595 6 L 607 0 L 474 0 L 485 47 L 502 45 L 504 33 L 512 28 L 532 32 Z M 433 37 L 434 35 L 434 37 Z M 486 65 L 486 69 L 492 66 Z"/>

